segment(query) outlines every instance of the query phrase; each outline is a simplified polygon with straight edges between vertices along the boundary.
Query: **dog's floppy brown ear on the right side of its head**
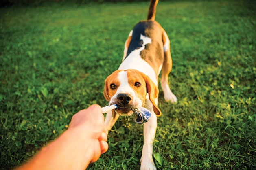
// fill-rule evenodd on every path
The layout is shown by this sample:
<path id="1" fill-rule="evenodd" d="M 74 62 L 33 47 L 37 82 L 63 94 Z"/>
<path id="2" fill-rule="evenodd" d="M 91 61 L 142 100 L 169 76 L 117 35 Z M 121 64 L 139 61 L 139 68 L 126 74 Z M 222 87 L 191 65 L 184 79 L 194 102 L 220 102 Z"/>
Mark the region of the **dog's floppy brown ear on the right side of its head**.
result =
<path id="1" fill-rule="evenodd" d="M 158 98 L 159 90 L 155 83 L 146 75 L 144 75 L 144 80 L 146 82 L 147 93 L 149 93 L 149 100 L 153 104 L 153 110 L 157 116 L 162 114 L 161 110 L 155 104 L 155 99 Z"/>

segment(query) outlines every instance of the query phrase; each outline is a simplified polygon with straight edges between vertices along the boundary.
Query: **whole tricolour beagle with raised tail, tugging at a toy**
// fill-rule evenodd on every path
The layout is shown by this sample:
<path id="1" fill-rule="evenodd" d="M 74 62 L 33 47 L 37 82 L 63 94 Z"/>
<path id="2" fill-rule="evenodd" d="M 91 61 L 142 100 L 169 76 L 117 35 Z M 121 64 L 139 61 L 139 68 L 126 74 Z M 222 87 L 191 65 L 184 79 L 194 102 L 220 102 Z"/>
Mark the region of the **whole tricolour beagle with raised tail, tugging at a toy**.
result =
<path id="1" fill-rule="evenodd" d="M 156 170 L 153 161 L 153 142 L 157 127 L 158 76 L 162 70 L 160 84 L 167 102 L 177 102 L 176 96 L 168 85 L 172 59 L 170 40 L 155 21 L 158 0 L 151 0 L 148 17 L 131 30 L 125 41 L 122 63 L 118 70 L 105 80 L 104 96 L 109 105 L 116 104 L 117 109 L 109 111 L 105 118 L 107 130 L 110 130 L 120 115 L 132 115 L 133 109 L 145 107 L 151 113 L 144 123 L 144 145 L 140 159 L 141 170 Z"/>

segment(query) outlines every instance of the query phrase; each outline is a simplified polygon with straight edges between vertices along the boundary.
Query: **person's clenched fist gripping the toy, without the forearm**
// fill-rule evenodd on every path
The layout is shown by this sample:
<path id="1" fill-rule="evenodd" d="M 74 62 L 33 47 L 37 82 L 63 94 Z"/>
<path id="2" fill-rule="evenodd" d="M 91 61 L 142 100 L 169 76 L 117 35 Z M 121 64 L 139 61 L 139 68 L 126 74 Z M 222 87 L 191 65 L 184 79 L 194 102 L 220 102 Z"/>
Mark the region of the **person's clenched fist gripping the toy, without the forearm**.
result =
<path id="1" fill-rule="evenodd" d="M 97 161 L 100 155 L 107 151 L 107 129 L 99 105 L 92 105 L 73 115 L 69 130 L 76 130 L 75 132 L 82 137 L 85 144 L 90 146 L 85 155 L 88 157 L 88 153 L 91 153 L 91 162 Z"/>

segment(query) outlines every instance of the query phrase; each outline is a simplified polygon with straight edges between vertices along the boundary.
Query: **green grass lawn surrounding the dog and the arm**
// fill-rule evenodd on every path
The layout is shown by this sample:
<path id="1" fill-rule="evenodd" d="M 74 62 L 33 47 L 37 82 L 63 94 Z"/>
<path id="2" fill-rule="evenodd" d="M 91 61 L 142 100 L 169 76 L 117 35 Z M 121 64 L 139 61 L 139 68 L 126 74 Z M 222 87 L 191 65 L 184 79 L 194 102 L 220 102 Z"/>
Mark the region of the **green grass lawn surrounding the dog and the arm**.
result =
<path id="1" fill-rule="evenodd" d="M 77 111 L 107 105 L 105 78 L 148 2 L 0 10 L 0 169 L 22 164 L 59 136 Z M 256 4 L 159 2 L 171 40 L 171 90 L 154 142 L 169 169 L 256 168 Z M 130 122 L 130 123 L 129 123 Z M 143 127 L 121 117 L 109 150 L 88 170 L 139 169 Z"/>

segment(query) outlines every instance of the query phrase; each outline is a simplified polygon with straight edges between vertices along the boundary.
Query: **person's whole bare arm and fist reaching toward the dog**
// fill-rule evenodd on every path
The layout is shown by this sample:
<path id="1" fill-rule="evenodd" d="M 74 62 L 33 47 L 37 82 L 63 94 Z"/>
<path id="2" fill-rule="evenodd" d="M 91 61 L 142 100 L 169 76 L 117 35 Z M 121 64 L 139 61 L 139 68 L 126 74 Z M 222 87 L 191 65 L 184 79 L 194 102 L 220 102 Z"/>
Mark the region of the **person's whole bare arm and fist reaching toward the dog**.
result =
<path id="1" fill-rule="evenodd" d="M 102 109 L 92 105 L 73 115 L 68 130 L 16 170 L 84 170 L 108 149 Z"/>

